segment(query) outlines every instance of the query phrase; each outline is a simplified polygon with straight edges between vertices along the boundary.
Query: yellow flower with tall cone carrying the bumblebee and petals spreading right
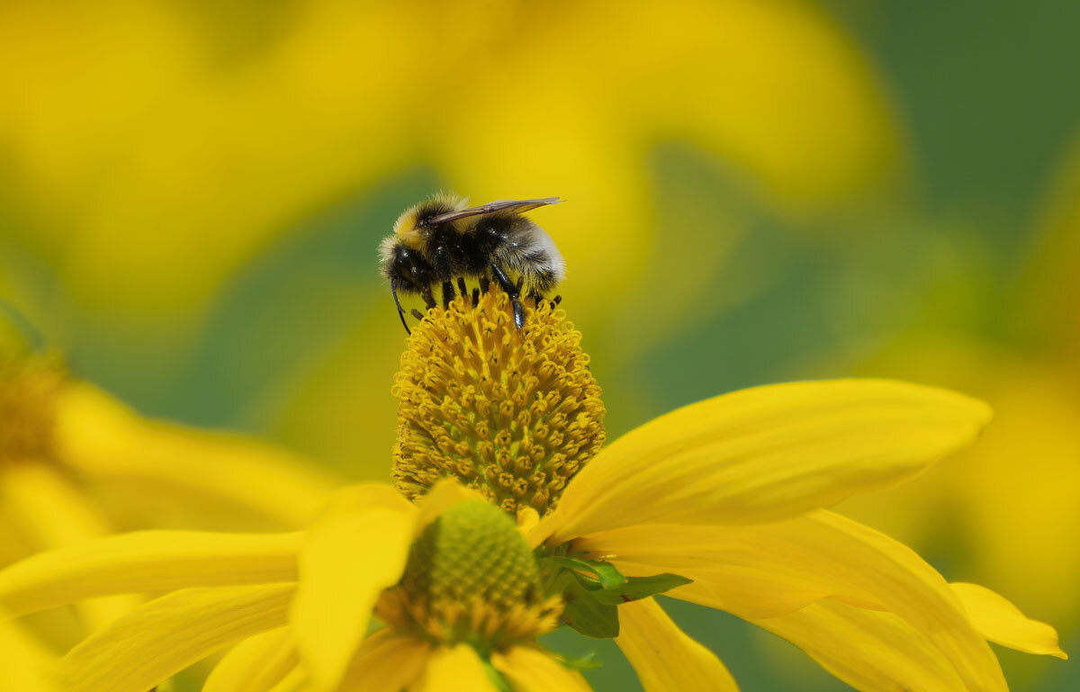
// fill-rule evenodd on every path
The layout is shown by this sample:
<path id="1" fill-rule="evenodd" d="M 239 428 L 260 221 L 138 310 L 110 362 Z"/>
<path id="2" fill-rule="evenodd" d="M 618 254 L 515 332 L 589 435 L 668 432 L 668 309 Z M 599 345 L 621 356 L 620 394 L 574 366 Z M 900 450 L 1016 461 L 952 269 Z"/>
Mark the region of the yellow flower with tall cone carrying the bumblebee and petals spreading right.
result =
<path id="1" fill-rule="evenodd" d="M 541 309 L 532 323 L 540 334 L 526 329 L 508 362 L 502 353 L 515 335 L 504 309 L 487 303 L 470 310 L 458 301 L 429 313 L 403 356 L 396 476 L 406 492 L 418 492 L 418 478 L 449 474 L 502 503 L 516 493 L 518 504 L 546 513 L 531 531 L 535 544 L 604 559 L 629 576 L 690 578 L 669 595 L 774 632 L 860 689 L 1003 689 L 984 636 L 1064 655 L 1053 629 L 1004 599 L 948 585 L 903 545 L 821 510 L 912 477 L 966 446 L 989 419 L 985 405 L 873 380 L 739 392 L 623 436 L 577 472 L 556 504 L 545 490 L 564 474 L 552 466 L 571 452 L 577 471 L 582 460 L 573 454 L 599 435 L 588 434 L 603 415 L 591 406 L 598 392 L 583 370 L 588 359 L 569 329 Z M 536 374 L 546 381 L 529 382 Z M 517 391 L 498 389 L 515 381 Z M 529 389 L 539 394 L 517 397 Z M 550 406 L 537 411 L 553 394 L 579 433 L 565 444 L 551 444 Z M 489 418 L 485 410 L 508 399 L 535 418 L 503 411 L 518 424 L 504 428 L 509 453 L 500 456 L 498 440 L 490 449 L 477 429 Z M 523 447 L 543 448 L 544 461 L 522 466 Z"/>

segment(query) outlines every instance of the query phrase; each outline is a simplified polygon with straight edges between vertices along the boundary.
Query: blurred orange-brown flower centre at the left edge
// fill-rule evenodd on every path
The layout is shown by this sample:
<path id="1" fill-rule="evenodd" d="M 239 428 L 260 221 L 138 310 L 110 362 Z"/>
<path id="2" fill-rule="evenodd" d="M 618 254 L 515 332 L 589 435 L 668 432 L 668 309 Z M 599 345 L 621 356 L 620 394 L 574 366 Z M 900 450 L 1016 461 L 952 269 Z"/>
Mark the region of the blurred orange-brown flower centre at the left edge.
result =
<path id="1" fill-rule="evenodd" d="M 0 361 L 0 463 L 54 454 L 54 401 L 67 375 L 54 358 Z"/>

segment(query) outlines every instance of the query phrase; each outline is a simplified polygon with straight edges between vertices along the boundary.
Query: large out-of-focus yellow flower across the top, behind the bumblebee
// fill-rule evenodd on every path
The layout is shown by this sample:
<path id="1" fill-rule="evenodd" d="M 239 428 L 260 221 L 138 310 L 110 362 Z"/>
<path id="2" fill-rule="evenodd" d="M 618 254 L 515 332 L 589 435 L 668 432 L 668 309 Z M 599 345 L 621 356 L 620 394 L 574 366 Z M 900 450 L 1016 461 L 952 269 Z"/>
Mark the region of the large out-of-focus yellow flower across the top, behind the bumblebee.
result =
<path id="1" fill-rule="evenodd" d="M 0 27 L 11 230 L 111 313 L 198 316 L 268 239 L 418 166 L 476 199 L 580 202 L 561 241 L 579 291 L 648 257 L 659 140 L 793 212 L 896 168 L 863 56 L 798 2 L 106 0 L 9 3 Z"/>

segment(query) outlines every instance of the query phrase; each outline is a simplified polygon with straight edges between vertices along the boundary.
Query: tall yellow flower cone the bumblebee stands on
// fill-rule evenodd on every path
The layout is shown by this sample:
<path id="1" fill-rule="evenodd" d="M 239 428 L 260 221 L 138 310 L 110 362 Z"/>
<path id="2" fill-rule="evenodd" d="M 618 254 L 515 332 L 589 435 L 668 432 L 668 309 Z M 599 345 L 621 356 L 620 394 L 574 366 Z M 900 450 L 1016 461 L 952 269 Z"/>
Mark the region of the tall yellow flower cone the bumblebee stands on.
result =
<path id="1" fill-rule="evenodd" d="M 409 499 L 456 477 L 511 514 L 544 515 L 604 445 L 600 388 L 581 333 L 548 301 L 527 310 L 521 330 L 500 290 L 430 309 L 393 394 L 393 477 Z"/>

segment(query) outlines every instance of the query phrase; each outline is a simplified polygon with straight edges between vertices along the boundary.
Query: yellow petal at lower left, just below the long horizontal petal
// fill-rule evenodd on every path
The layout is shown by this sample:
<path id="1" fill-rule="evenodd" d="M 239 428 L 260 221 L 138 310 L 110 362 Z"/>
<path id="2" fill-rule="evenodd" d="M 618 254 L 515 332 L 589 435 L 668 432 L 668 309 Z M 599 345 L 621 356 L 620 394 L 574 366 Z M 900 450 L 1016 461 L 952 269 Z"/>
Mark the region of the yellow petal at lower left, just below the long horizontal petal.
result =
<path id="1" fill-rule="evenodd" d="M 100 629 L 60 660 L 66 692 L 146 692 L 192 663 L 285 624 L 294 584 L 174 592 Z"/>

